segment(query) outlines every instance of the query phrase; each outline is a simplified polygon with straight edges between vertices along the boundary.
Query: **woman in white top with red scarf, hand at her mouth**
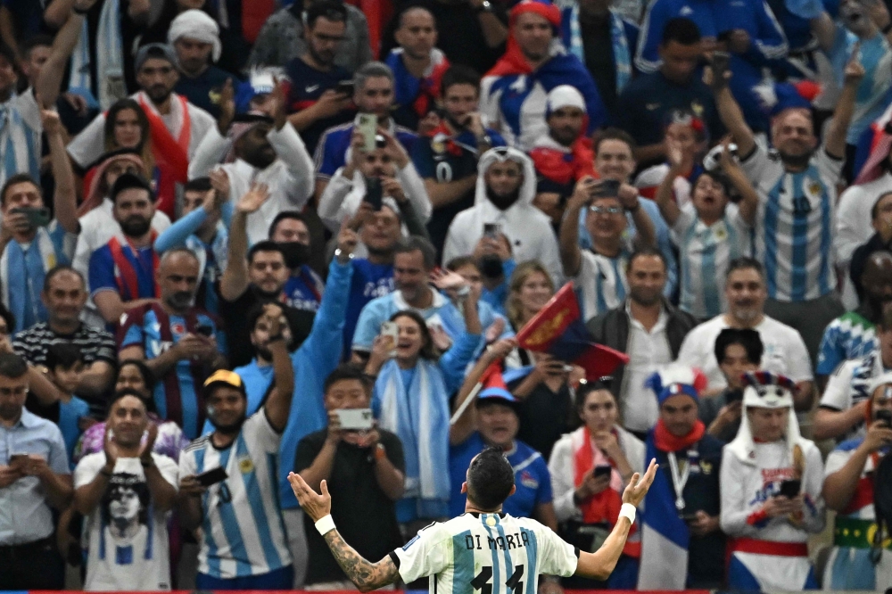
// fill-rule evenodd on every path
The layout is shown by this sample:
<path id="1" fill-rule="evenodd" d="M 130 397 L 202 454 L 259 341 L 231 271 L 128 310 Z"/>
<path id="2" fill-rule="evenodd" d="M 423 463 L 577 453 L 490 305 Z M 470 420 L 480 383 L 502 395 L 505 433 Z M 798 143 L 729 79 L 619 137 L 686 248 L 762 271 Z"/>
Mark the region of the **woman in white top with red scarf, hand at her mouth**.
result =
<path id="1" fill-rule="evenodd" d="M 576 408 L 582 427 L 564 435 L 551 450 L 551 487 L 561 536 L 580 549 L 595 550 L 616 523 L 625 483 L 644 469 L 645 449 L 617 424 L 615 397 L 602 382 L 580 385 Z M 640 554 L 640 534 L 633 527 L 607 588 L 636 588 Z M 565 586 L 595 585 L 585 582 Z"/>

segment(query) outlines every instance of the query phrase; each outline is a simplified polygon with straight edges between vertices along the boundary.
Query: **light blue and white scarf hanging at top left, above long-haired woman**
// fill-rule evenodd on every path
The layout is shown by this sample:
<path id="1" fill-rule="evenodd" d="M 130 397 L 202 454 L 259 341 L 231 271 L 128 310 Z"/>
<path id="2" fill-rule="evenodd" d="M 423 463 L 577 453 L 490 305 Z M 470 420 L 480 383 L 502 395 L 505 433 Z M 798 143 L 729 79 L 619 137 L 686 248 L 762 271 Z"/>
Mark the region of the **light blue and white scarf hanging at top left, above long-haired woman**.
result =
<path id="1" fill-rule="evenodd" d="M 105 0 L 99 13 L 96 29 L 96 92 L 100 107 L 107 110 L 111 103 L 127 96 L 124 87 L 124 50 L 120 34 L 120 0 Z M 93 97 L 93 76 L 90 73 L 90 32 L 87 19 L 80 29 L 78 45 L 71 54 L 69 90 Z"/>

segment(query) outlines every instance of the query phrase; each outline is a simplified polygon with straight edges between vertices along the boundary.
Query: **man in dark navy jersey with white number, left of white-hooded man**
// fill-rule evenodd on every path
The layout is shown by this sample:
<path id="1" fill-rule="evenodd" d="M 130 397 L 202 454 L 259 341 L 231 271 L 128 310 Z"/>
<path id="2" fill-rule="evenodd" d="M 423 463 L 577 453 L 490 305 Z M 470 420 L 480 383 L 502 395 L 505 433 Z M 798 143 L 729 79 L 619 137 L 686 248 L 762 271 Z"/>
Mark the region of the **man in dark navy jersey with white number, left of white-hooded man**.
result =
<path id="1" fill-rule="evenodd" d="M 485 128 L 477 111 L 480 76 L 467 66 L 452 66 L 440 82 L 442 120 L 412 148 L 412 162 L 425 181 L 434 211 L 427 233 L 437 252 L 442 252 L 452 219 L 474 206 L 477 160 L 505 140 Z"/>

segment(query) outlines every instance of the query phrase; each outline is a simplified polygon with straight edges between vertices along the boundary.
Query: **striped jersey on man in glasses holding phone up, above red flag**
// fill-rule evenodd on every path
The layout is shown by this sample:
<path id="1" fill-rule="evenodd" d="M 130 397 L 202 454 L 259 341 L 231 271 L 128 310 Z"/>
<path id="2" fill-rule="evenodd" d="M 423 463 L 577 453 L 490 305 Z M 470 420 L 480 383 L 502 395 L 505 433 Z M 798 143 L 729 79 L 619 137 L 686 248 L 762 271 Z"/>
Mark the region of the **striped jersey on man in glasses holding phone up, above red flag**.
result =
<path id="1" fill-rule="evenodd" d="M 625 266 L 629 251 L 623 250 L 615 258 L 607 258 L 591 250 L 582 250 L 579 272 L 574 278 L 577 298 L 582 302 L 582 319 L 585 321 L 618 308 L 629 293 L 625 279 Z"/>

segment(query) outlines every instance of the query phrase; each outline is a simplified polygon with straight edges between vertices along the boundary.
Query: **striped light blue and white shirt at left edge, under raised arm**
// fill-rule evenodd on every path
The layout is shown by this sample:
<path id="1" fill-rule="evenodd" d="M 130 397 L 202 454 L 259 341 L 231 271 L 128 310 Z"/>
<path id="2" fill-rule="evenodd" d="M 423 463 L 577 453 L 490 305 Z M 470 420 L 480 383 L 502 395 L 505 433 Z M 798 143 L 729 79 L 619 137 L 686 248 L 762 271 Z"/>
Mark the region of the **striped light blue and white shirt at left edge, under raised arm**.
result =
<path id="1" fill-rule="evenodd" d="M 0 103 L 0 186 L 17 173 L 40 179 L 43 129 L 31 87 Z"/>

